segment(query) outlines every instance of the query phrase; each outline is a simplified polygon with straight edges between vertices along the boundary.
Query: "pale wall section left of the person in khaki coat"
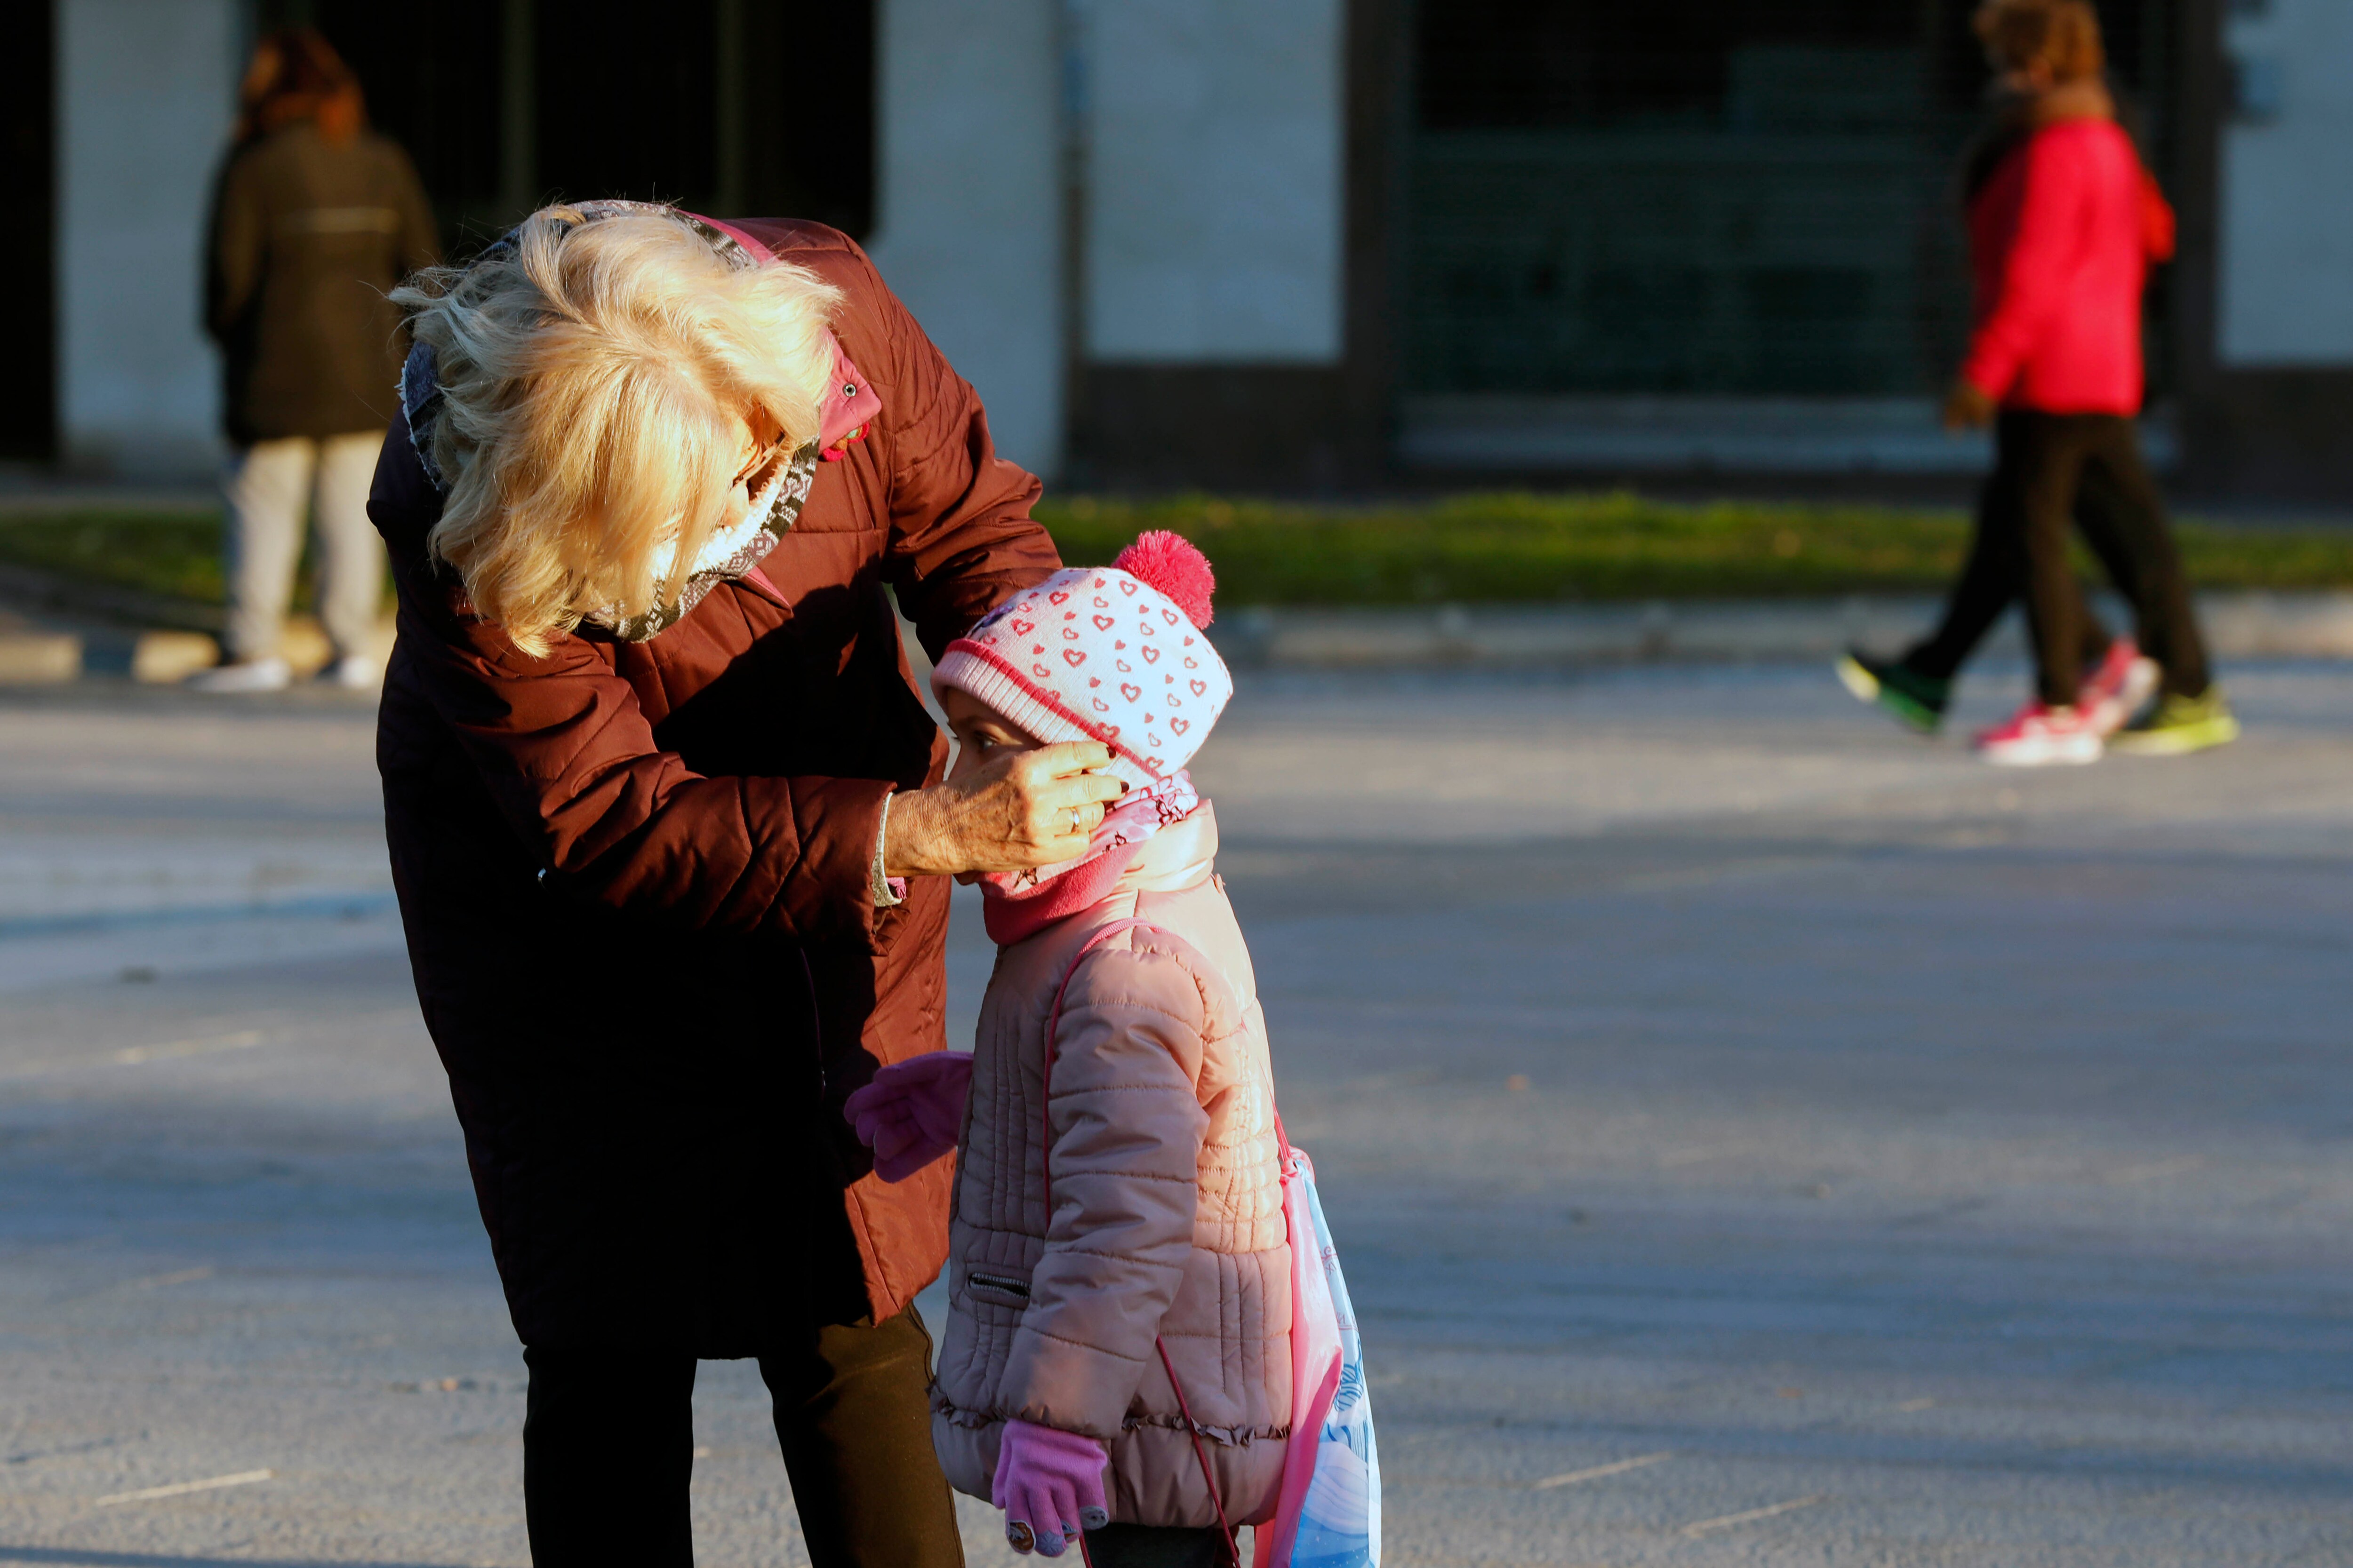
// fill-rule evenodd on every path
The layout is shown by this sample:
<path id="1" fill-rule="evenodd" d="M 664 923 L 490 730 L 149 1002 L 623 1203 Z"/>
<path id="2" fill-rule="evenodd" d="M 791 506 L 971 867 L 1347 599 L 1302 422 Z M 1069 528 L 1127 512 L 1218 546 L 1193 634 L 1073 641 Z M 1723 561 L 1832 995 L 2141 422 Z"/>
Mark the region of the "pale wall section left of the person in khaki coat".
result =
<path id="1" fill-rule="evenodd" d="M 219 461 L 200 249 L 240 38 L 235 0 L 59 0 L 56 402 L 75 468 Z"/>

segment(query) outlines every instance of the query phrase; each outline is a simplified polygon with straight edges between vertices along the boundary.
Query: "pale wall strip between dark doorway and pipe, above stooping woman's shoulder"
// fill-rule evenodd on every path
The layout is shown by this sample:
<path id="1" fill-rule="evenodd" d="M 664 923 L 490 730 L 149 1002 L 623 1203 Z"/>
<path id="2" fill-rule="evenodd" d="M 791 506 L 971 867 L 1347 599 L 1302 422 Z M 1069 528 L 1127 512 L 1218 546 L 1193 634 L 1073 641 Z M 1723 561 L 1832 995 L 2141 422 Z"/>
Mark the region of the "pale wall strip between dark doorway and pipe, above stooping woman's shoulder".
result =
<path id="1" fill-rule="evenodd" d="M 1040 475 L 1064 433 L 1056 47 L 1056 0 L 880 0 L 868 249 Z"/>

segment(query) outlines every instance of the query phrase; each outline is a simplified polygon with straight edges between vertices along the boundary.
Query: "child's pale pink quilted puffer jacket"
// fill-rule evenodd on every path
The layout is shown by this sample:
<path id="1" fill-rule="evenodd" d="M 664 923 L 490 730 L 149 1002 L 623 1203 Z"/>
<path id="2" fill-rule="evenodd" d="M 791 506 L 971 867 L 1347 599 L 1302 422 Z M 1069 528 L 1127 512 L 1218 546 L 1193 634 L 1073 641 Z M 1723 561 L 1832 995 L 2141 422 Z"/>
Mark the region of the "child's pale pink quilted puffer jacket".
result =
<path id="1" fill-rule="evenodd" d="M 1212 875 L 1207 804 L 1144 842 L 1111 898 L 998 952 L 948 1222 L 948 1331 L 932 1436 L 988 1497 L 1007 1418 L 1111 1448 L 1111 1516 L 1217 1523 L 1158 1335 L 1205 1434 L 1226 1516 L 1273 1516 L 1292 1403 L 1292 1262 L 1275 1091 L 1249 950 Z M 1047 1013 L 1078 964 L 1052 1077 Z"/>

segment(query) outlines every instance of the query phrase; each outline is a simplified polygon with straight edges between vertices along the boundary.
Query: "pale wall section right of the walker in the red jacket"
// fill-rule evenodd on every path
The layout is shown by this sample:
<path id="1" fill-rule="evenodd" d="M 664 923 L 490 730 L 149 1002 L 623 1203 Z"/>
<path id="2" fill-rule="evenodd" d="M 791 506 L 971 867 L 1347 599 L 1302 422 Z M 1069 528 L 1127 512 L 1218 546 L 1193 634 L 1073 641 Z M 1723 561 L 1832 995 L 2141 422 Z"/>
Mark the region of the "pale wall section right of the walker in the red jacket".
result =
<path id="1" fill-rule="evenodd" d="M 2224 364 L 2353 364 L 2353 2 L 2268 0 L 2226 47 L 2278 115 L 2221 146 Z"/>

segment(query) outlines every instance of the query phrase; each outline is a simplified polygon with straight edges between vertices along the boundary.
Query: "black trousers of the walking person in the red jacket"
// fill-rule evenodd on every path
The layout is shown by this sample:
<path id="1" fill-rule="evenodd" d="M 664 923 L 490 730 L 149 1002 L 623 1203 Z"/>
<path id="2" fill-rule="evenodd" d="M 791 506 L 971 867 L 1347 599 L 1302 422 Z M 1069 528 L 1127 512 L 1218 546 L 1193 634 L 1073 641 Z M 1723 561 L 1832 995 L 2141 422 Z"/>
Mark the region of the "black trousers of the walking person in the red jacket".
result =
<path id="1" fill-rule="evenodd" d="M 2165 691 L 2205 691 L 2212 679 L 2205 639 L 2132 421 L 2009 409 L 1993 435 L 1995 463 L 1979 496 L 1969 559 L 1946 599 L 1944 623 L 1904 663 L 1951 679 L 2002 611 L 2024 597 L 2035 693 L 2052 705 L 2073 703 L 2085 668 L 2097 665 L 2111 642 L 2066 557 L 2073 522 L 2132 602 L 2134 639 L 2165 670 Z"/>

